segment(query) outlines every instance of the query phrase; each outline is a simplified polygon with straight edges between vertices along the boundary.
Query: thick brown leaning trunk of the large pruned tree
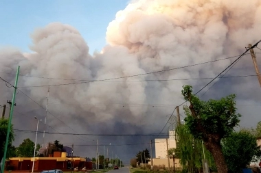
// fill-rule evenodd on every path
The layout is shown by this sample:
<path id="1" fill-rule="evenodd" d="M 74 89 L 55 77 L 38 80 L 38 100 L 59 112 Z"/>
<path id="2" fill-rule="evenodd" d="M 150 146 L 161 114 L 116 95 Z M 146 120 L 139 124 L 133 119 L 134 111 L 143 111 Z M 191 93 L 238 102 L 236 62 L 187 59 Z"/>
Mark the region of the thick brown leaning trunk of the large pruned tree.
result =
<path id="1" fill-rule="evenodd" d="M 211 152 L 212 156 L 214 157 L 218 173 L 227 173 L 227 163 L 225 163 L 225 157 L 223 155 L 220 142 L 211 142 L 209 140 L 208 142 L 204 143 L 207 150 L 209 150 L 209 152 Z"/>

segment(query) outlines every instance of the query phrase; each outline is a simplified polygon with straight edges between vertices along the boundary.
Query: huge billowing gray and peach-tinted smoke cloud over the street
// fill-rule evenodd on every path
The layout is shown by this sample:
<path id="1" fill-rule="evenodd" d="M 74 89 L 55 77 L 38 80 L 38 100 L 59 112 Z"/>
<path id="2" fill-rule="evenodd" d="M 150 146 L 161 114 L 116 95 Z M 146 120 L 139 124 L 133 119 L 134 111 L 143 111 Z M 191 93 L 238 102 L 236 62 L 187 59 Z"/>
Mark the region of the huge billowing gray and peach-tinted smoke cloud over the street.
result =
<path id="1" fill-rule="evenodd" d="M 182 85 L 193 85 L 196 91 L 210 80 L 170 79 L 215 77 L 234 59 L 149 75 L 127 76 L 240 55 L 245 51 L 245 46 L 260 40 L 260 31 L 259 0 L 252 0 L 251 3 L 242 0 L 133 1 L 126 9 L 117 12 L 115 20 L 109 23 L 106 32 L 108 45 L 101 53 L 89 55 L 87 43 L 74 27 L 50 23 L 32 34 L 30 49 L 33 53 L 3 48 L 0 51 L 0 69 L 1 72 L 14 74 L 19 65 L 22 75 L 32 76 L 20 77 L 19 86 L 126 77 L 51 86 L 49 111 L 77 133 L 159 133 L 168 120 L 167 115 L 172 113 L 174 106 L 183 102 Z M 258 49 L 255 51 L 258 52 Z M 229 75 L 255 75 L 251 56 L 245 55 L 227 73 Z M 1 77 L 14 83 L 13 75 L 2 74 Z M 152 79 L 169 81 L 148 81 Z M 1 85 L 3 105 L 11 98 L 12 89 L 5 88 L 4 83 Z M 21 90 L 45 107 L 47 86 Z M 256 77 L 220 79 L 204 98 L 238 94 L 238 104 L 242 105 L 239 106 L 243 116 L 241 124 L 253 127 L 258 121 L 256 112 L 260 107 L 246 104 L 258 103 L 261 96 L 259 90 Z M 26 114 L 26 118 L 15 114 L 14 127 L 17 129 L 35 129 L 35 125 L 30 125 L 34 123 L 32 117 L 45 116 L 44 109 L 21 93 L 17 96 L 16 105 L 16 110 Z M 50 114 L 47 124 L 59 132 L 73 132 Z M 20 141 L 24 138 L 20 137 L 21 133 L 17 135 Z M 72 139 L 81 142 L 77 137 L 69 139 L 58 135 L 49 135 L 48 139 L 52 141 L 55 138 L 68 144 Z M 89 141 L 94 139 L 97 137 L 88 137 Z M 142 141 L 120 138 L 119 142 L 115 142 L 117 137 L 101 140 L 108 144 L 113 140 L 120 144 Z M 122 147 L 122 150 L 126 148 Z M 88 150 L 88 153 L 93 154 L 94 151 Z"/>

